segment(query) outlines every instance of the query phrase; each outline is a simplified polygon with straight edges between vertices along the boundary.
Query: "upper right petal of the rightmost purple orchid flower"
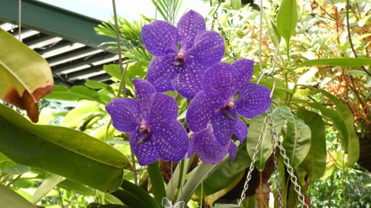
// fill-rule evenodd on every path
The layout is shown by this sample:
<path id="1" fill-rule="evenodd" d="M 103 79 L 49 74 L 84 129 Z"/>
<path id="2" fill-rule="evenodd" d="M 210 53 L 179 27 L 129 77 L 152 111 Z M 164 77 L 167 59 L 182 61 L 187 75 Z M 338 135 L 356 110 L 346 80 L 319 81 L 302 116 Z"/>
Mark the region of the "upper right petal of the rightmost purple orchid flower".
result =
<path id="1" fill-rule="evenodd" d="M 237 89 L 243 84 L 248 83 L 252 78 L 252 72 L 254 71 L 254 61 L 247 58 L 241 58 L 232 63 L 232 67 L 237 72 Z"/>

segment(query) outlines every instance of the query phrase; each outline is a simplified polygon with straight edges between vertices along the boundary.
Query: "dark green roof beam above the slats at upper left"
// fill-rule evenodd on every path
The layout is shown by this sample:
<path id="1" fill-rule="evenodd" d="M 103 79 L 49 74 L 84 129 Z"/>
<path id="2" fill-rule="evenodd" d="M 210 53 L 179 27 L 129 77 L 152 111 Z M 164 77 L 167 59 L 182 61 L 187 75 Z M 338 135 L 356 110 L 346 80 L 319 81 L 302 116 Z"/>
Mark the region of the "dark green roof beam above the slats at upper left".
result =
<path id="1" fill-rule="evenodd" d="M 18 1 L 1 0 L 0 20 L 18 22 Z M 22 0 L 22 26 L 96 49 L 102 42 L 112 41 L 110 37 L 95 33 L 94 27 L 100 23 L 101 21 L 96 19 L 46 3 Z"/>

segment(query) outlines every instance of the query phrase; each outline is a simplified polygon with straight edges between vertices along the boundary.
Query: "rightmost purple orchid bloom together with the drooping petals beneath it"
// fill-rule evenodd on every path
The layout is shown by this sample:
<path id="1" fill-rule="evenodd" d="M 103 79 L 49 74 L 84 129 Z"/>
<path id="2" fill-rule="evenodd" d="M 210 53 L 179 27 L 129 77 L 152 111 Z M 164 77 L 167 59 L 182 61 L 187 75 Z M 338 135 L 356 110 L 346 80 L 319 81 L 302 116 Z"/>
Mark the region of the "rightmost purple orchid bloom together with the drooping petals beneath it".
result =
<path id="1" fill-rule="evenodd" d="M 233 160 L 237 148 L 232 135 L 241 143 L 247 136 L 247 126 L 238 114 L 252 119 L 272 103 L 270 89 L 249 83 L 253 66 L 253 60 L 240 59 L 233 64 L 214 64 L 205 73 L 203 89 L 192 99 L 186 114 L 188 127 L 196 132 L 188 155 L 195 152 L 205 163 L 217 164 L 229 152 Z"/>

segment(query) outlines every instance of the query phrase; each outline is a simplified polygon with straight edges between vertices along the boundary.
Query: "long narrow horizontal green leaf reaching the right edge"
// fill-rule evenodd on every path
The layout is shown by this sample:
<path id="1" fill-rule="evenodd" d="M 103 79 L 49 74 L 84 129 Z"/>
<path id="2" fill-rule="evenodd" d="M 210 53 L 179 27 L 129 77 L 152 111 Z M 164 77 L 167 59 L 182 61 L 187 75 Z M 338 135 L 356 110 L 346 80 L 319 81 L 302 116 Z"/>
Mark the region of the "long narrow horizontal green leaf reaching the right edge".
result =
<path id="1" fill-rule="evenodd" d="M 340 67 L 359 67 L 371 65 L 371 58 L 321 58 L 306 60 L 299 65 L 299 67 L 305 66 L 340 66 Z"/>

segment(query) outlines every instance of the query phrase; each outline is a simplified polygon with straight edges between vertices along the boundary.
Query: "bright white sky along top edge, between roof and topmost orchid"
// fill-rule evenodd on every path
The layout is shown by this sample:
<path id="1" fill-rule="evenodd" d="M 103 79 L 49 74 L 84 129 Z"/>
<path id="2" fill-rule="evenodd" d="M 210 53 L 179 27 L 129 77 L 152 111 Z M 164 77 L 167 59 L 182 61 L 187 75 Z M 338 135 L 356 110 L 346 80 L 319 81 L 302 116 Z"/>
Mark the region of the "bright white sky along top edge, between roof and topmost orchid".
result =
<path id="1" fill-rule="evenodd" d="M 110 0 L 38 0 L 53 6 L 71 10 L 100 21 L 108 21 L 113 17 L 112 1 Z M 115 0 L 117 16 L 124 17 L 129 21 L 140 18 L 140 14 L 147 17 L 155 17 L 155 6 L 151 0 Z M 210 10 L 210 4 L 201 0 L 183 0 L 180 13 L 186 10 L 195 10 L 204 17 Z M 160 19 L 160 14 L 157 15 Z M 176 19 L 179 19 L 176 18 Z"/>

